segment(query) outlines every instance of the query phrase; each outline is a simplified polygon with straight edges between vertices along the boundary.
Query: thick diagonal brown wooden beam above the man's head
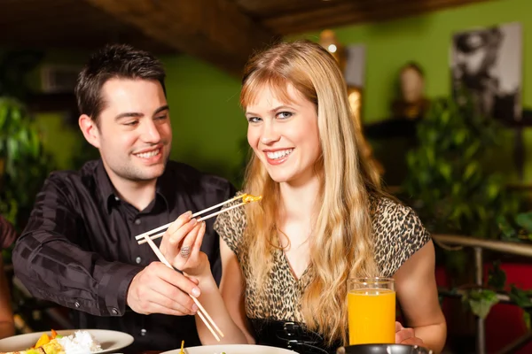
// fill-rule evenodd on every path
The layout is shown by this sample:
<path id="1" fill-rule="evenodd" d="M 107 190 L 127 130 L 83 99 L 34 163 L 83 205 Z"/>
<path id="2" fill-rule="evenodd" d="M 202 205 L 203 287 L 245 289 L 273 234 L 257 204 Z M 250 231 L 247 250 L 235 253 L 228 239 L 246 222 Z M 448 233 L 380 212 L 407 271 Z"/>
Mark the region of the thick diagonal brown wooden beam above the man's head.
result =
<path id="1" fill-rule="evenodd" d="M 240 75 L 254 50 L 278 38 L 231 0 L 83 0 L 169 47 Z"/>

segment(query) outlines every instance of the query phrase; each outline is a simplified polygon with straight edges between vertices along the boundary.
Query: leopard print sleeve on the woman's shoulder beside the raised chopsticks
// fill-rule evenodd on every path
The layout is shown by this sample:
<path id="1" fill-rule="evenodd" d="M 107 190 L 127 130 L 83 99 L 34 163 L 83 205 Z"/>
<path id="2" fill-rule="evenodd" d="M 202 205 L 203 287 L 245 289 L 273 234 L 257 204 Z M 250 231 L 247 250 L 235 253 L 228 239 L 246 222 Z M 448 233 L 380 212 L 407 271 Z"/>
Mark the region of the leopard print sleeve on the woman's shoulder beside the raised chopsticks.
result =
<path id="1" fill-rule="evenodd" d="M 236 194 L 236 196 L 239 195 L 242 195 L 242 192 Z M 239 203 L 241 203 L 241 200 L 237 199 L 230 204 L 226 204 L 223 209 L 227 209 Z M 218 215 L 218 218 L 216 218 L 215 221 L 215 231 L 222 237 L 223 241 L 239 259 L 244 239 L 244 229 L 246 228 L 246 213 L 244 207 L 245 205 L 243 207 L 232 209 L 229 212 L 223 212 Z"/>

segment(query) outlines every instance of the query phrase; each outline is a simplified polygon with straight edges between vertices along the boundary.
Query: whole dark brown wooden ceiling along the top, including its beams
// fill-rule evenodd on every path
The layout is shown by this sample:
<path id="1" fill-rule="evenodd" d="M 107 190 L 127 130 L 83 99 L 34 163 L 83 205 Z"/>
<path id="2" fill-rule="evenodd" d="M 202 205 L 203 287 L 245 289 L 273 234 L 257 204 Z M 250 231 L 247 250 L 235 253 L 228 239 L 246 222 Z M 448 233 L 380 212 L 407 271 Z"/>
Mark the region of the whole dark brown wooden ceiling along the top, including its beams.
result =
<path id="1" fill-rule="evenodd" d="M 239 74 L 281 38 L 486 0 L 0 0 L 0 48 L 94 50 L 129 42 Z"/>

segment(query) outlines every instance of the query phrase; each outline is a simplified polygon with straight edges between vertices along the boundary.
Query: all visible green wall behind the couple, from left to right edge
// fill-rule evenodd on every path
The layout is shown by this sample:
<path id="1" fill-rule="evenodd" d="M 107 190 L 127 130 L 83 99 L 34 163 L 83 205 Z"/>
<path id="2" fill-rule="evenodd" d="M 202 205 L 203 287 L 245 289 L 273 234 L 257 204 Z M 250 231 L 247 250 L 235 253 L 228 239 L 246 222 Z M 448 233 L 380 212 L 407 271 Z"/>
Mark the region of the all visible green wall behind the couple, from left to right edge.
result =
<path id="1" fill-rule="evenodd" d="M 367 50 L 364 121 L 386 119 L 395 94 L 395 77 L 401 65 L 416 60 L 426 72 L 426 94 L 429 97 L 450 94 L 449 50 L 454 32 L 472 27 L 485 27 L 519 21 L 523 28 L 523 106 L 532 107 L 532 2 L 499 0 L 470 4 L 409 19 L 384 23 L 332 28 L 340 42 L 364 43 Z M 301 35 L 317 40 L 319 32 Z M 301 37 L 298 36 L 298 37 Z M 55 53 L 51 61 L 79 61 Z M 83 59 L 84 60 L 84 59 Z M 188 56 L 162 58 L 168 70 L 168 102 L 174 130 L 172 158 L 202 170 L 218 173 L 235 181 L 239 165 L 246 153 L 246 121 L 238 104 L 239 79 L 229 76 L 198 59 Z M 72 152 L 81 149 L 82 136 L 59 127 L 59 118 L 47 115 L 41 119 L 57 127 L 44 132 L 47 145 L 65 168 Z M 60 137 L 58 140 L 58 136 Z M 70 135 L 69 135 L 70 134 Z M 532 130 L 524 132 L 526 154 L 532 160 Z M 523 181 L 518 181 L 512 162 L 513 136 L 505 131 L 507 143 L 493 157 L 494 169 L 504 171 L 511 181 L 532 181 L 532 164 L 528 163 Z M 60 144 L 59 144 L 60 142 Z M 404 142 L 373 142 L 378 157 L 387 160 L 403 158 Z M 388 169 L 389 171 L 389 169 Z M 393 176 L 387 175 L 389 181 Z"/>

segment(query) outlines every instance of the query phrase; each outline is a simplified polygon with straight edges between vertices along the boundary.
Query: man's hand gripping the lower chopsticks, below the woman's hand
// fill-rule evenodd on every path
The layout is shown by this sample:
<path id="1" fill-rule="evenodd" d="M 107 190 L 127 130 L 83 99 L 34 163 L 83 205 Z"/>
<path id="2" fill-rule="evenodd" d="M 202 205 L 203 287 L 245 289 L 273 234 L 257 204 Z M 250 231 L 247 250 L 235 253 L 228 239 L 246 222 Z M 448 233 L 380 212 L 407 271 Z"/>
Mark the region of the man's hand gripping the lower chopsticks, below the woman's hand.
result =
<path id="1" fill-rule="evenodd" d="M 197 285 L 197 280 L 153 262 L 131 281 L 127 302 L 131 310 L 142 314 L 193 315 L 198 307 L 189 294 L 200 296 Z"/>

